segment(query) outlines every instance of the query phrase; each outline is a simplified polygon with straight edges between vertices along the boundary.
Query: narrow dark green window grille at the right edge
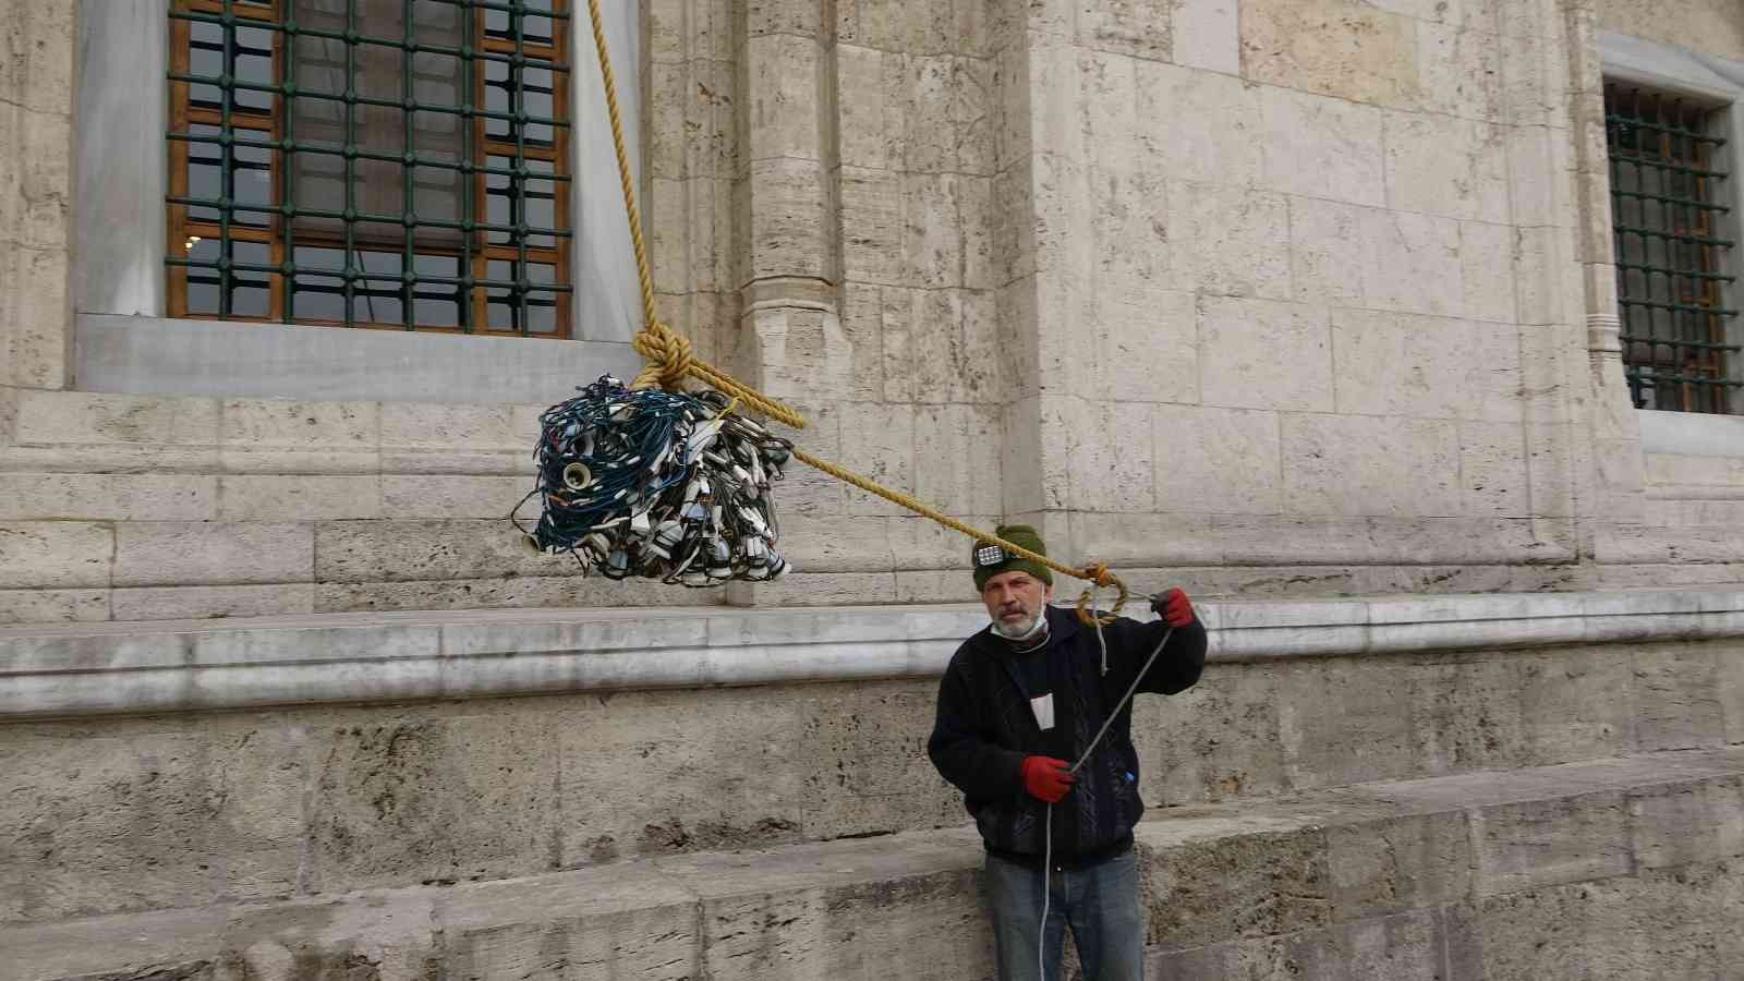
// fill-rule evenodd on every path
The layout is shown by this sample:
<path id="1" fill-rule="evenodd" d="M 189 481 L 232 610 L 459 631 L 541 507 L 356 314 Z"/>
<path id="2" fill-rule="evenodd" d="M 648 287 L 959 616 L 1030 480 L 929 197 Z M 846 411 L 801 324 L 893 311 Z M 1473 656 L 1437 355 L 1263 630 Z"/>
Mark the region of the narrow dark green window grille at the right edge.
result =
<path id="1" fill-rule="evenodd" d="M 1714 110 L 1634 86 L 1604 87 L 1624 374 L 1636 408 L 1732 412 L 1744 388 L 1727 140 Z"/>

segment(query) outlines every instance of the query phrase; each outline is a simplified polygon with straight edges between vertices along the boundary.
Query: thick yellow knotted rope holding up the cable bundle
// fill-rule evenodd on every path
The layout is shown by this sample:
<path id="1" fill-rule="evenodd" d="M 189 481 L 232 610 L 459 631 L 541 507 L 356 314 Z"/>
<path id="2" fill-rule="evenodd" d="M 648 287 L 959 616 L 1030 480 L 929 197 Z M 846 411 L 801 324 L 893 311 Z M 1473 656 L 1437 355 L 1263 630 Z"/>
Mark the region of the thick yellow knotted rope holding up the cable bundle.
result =
<path id="1" fill-rule="evenodd" d="M 600 0 L 588 0 L 588 14 L 593 17 L 593 45 L 600 52 L 600 75 L 605 80 L 605 112 L 612 122 L 612 148 L 617 152 L 617 180 L 624 192 L 624 216 L 630 220 L 630 244 L 635 248 L 637 276 L 642 281 L 644 326 L 631 339 L 631 346 L 637 349 L 638 354 L 649 360 L 649 365 L 642 368 L 642 374 L 637 375 L 637 381 L 633 384 L 637 388 L 659 384 L 661 388 L 677 389 L 684 382 L 684 377 L 691 375 L 710 388 L 715 388 L 719 391 L 724 391 L 738 398 L 750 408 L 755 408 L 757 412 L 771 419 L 778 419 L 780 422 L 785 422 L 795 429 L 802 429 L 806 426 L 806 417 L 800 415 L 795 408 L 792 408 L 783 401 L 773 400 L 764 393 L 739 382 L 732 375 L 715 368 L 713 365 L 698 360 L 691 353 L 691 340 L 680 335 L 678 332 L 671 330 L 664 323 L 661 323 L 659 316 L 656 314 L 654 274 L 651 272 L 649 267 L 647 244 L 642 241 L 642 209 L 637 208 L 637 189 L 635 182 L 630 178 L 630 155 L 624 150 L 624 124 L 623 124 L 623 115 L 619 113 L 617 108 L 617 84 L 612 80 L 612 56 L 605 45 L 605 26 L 600 21 Z M 893 504 L 909 508 L 917 515 L 933 518 L 935 522 L 952 531 L 959 531 L 977 541 L 987 545 L 998 545 L 1013 555 L 1020 555 L 1032 562 L 1041 562 L 1043 566 L 1053 569 L 1055 573 L 1062 573 L 1076 580 L 1088 580 L 1095 583 L 1099 588 L 1114 587 L 1116 590 L 1120 590 L 1120 595 L 1114 600 L 1113 609 L 1107 614 L 1097 616 L 1104 623 L 1111 621 L 1114 614 L 1120 613 L 1120 607 L 1127 604 L 1127 585 L 1121 583 L 1113 573 L 1109 573 L 1107 566 L 1102 566 L 1100 562 L 1083 567 L 1066 566 L 1064 562 L 1048 559 L 1039 552 L 1031 552 L 1022 545 L 1013 545 L 1003 538 L 970 527 L 935 508 L 923 504 L 921 501 L 916 501 L 914 497 L 900 490 L 891 490 L 889 487 L 867 480 L 865 477 L 860 477 L 851 470 L 837 466 L 827 459 L 814 457 L 806 450 L 795 447 L 794 456 L 802 463 L 807 463 L 837 480 L 844 480 L 869 494 L 875 494 Z M 1078 597 L 1078 616 L 1088 623 L 1092 620 L 1092 614 L 1093 611 L 1090 609 L 1090 590 L 1085 590 L 1085 593 Z"/>

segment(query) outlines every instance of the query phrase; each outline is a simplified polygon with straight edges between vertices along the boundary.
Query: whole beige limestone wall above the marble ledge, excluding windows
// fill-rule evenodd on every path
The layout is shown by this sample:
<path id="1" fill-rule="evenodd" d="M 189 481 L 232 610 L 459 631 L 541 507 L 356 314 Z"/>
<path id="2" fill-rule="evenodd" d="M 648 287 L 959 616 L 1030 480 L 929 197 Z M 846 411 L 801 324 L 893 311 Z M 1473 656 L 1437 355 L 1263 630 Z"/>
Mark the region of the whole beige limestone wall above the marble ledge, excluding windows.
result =
<path id="1" fill-rule="evenodd" d="M 582 581 L 497 520 L 532 407 L 42 391 L 72 7 L 7 7 L 0 110 L 45 143 L 7 141 L 0 194 L 33 286 L 3 292 L 31 393 L 0 386 L 0 620 L 966 592 L 959 536 L 804 468 L 792 578 Z M 1734 578 L 1730 504 L 1646 506 L 1589 5 L 664 0 L 644 26 L 661 309 L 820 456 L 1139 588 Z"/>

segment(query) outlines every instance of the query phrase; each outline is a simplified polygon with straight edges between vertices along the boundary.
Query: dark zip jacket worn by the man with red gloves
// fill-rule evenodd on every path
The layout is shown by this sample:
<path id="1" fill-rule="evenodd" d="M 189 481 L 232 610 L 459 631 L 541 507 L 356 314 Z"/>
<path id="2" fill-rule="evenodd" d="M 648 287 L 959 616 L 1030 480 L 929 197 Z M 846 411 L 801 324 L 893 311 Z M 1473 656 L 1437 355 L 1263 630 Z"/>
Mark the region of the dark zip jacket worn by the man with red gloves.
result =
<path id="1" fill-rule="evenodd" d="M 1053 691 L 1052 730 L 1043 731 L 1029 705 L 1013 648 L 991 628 L 957 648 L 938 684 L 938 714 L 926 752 L 933 766 L 964 794 L 987 850 L 1039 862 L 1046 806 L 1024 791 L 1020 766 L 1029 754 L 1074 763 L 1107 712 L 1127 693 L 1146 658 L 1163 639 L 1163 621 L 1120 618 L 1104 627 L 1107 674 L 1095 630 L 1078 614 L 1048 607 L 1046 672 Z M 1177 627 L 1139 691 L 1186 691 L 1205 667 L 1205 627 Z M 1132 747 L 1132 703 L 1109 726 L 1078 782 L 1053 808 L 1053 861 L 1087 866 L 1132 847 L 1139 799 L 1139 754 Z"/>

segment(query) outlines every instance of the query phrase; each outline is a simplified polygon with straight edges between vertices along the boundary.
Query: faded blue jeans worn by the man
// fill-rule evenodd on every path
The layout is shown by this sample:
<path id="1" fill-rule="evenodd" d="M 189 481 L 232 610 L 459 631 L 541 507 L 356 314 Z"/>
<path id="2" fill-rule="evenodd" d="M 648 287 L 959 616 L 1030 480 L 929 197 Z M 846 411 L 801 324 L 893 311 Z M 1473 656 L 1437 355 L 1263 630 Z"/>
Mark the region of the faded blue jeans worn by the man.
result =
<path id="1" fill-rule="evenodd" d="M 1048 875 L 1046 978 L 1036 974 L 1041 930 L 1041 869 L 987 855 L 987 906 L 992 909 L 999 981 L 1059 981 L 1060 944 L 1073 929 L 1085 981 L 1141 981 L 1144 916 L 1139 911 L 1139 859 L 1113 857 L 1097 866 Z"/>

